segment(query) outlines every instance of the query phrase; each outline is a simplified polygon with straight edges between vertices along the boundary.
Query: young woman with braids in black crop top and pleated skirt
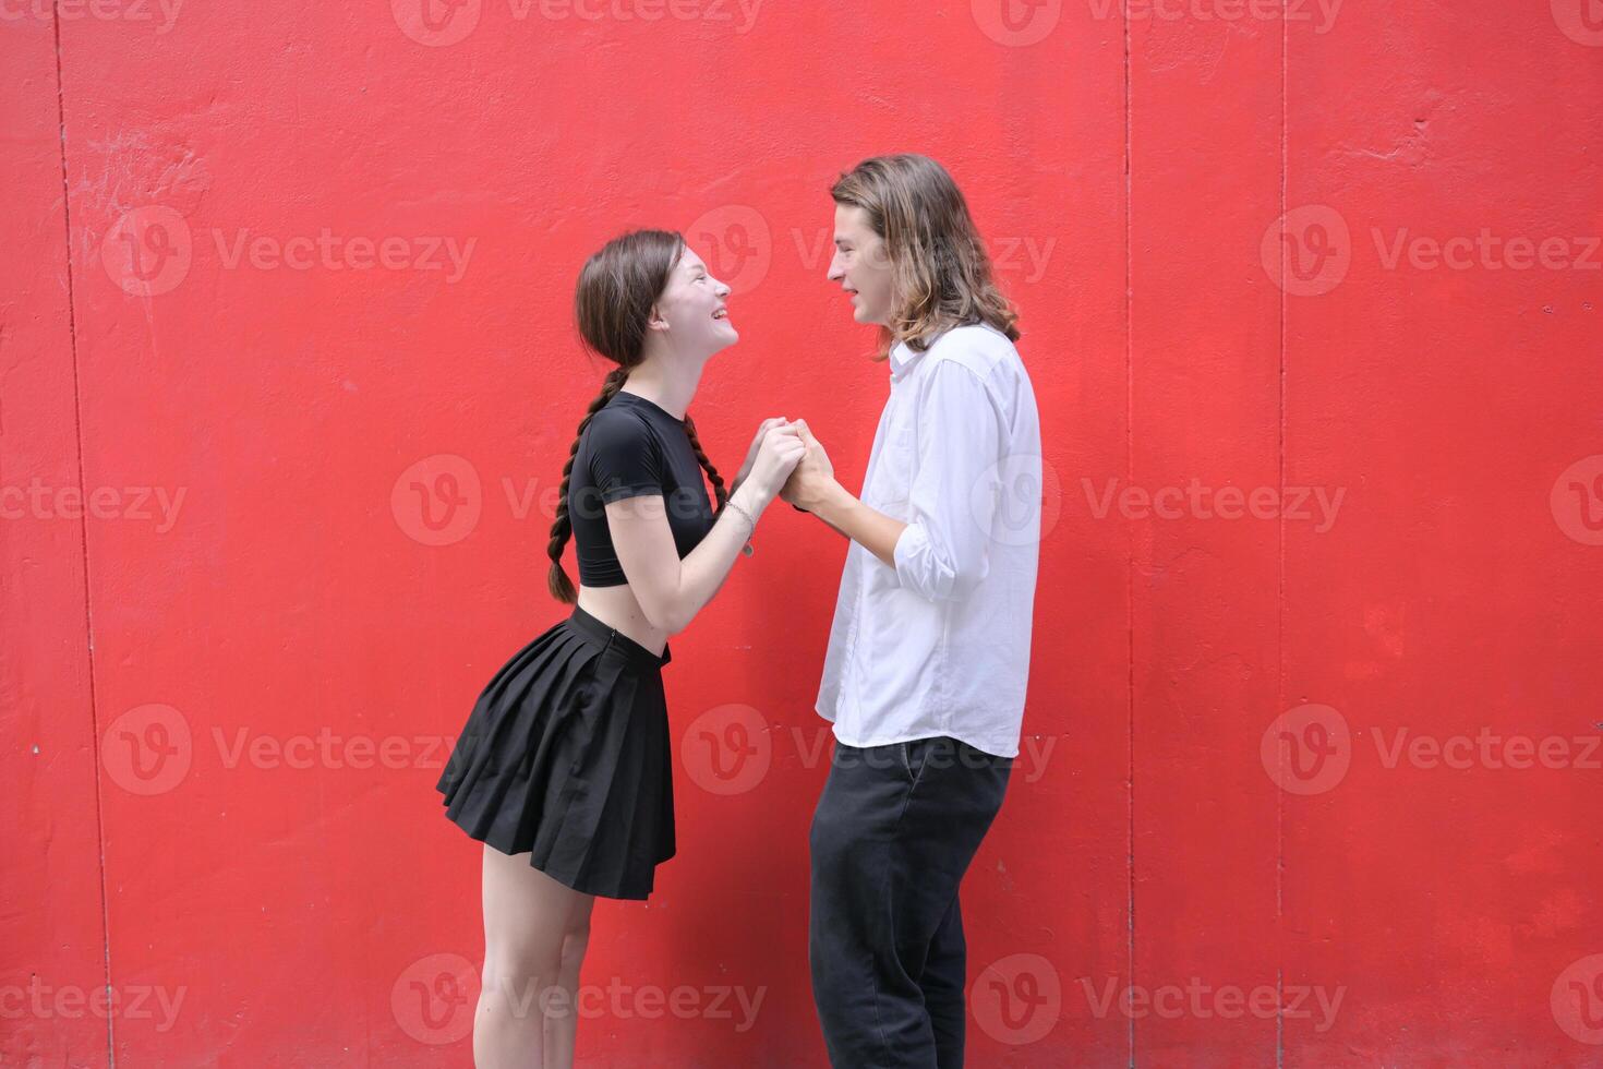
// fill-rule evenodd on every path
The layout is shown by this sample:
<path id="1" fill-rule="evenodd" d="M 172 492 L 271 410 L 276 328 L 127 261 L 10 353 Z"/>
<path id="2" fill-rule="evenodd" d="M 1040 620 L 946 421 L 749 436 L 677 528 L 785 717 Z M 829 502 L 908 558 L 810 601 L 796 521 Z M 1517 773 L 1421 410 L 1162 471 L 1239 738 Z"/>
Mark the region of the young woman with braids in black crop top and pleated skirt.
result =
<path id="1" fill-rule="evenodd" d="M 547 550 L 551 596 L 574 611 L 489 681 L 438 784 L 484 843 L 479 1069 L 572 1064 L 590 907 L 644 899 L 675 853 L 667 639 L 750 551 L 805 450 L 789 420 L 765 420 L 728 492 L 702 452 L 686 409 L 739 340 L 728 296 L 667 231 L 608 242 L 579 276 L 580 335 L 617 367 L 579 423 Z"/>

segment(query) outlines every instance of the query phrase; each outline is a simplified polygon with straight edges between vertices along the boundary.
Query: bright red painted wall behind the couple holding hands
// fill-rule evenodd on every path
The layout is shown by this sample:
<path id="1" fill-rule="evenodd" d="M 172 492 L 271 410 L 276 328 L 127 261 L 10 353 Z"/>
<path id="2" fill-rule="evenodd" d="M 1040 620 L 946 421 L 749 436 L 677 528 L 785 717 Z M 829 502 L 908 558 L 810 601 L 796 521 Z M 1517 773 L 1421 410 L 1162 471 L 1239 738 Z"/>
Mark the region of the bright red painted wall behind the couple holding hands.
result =
<path id="1" fill-rule="evenodd" d="M 0 3 L 0 1063 L 470 1064 L 434 781 L 564 614 L 577 268 L 684 229 L 710 454 L 806 417 L 856 489 L 826 189 L 912 149 L 1052 476 L 973 1064 L 1603 1064 L 1603 11 L 1330 2 Z M 757 547 L 673 639 L 680 856 L 596 909 L 582 1064 L 824 1064 L 843 545 Z"/>

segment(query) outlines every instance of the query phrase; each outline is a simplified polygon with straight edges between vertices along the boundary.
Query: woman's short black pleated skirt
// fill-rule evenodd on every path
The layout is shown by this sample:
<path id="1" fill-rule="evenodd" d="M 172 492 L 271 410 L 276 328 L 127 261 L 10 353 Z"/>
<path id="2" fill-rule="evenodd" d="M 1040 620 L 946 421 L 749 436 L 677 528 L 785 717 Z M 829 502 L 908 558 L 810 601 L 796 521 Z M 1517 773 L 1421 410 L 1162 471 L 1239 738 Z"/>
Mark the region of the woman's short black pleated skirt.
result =
<path id="1" fill-rule="evenodd" d="M 446 816 L 575 891 L 644 899 L 675 853 L 668 660 L 575 606 L 479 694 L 439 777 Z"/>

